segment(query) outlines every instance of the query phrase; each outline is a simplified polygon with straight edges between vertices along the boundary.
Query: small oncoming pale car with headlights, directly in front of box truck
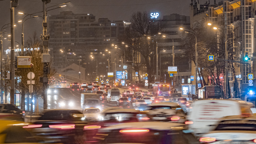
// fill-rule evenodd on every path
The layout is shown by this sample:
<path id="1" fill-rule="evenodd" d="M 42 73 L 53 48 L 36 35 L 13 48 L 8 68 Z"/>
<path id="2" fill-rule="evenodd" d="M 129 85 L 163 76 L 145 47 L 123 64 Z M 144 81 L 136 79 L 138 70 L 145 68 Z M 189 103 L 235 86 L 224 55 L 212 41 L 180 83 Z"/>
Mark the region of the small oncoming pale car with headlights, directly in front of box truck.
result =
<path id="1" fill-rule="evenodd" d="M 98 108 L 86 108 L 84 109 L 84 117 L 86 121 L 97 121 L 100 118 L 100 109 Z"/>

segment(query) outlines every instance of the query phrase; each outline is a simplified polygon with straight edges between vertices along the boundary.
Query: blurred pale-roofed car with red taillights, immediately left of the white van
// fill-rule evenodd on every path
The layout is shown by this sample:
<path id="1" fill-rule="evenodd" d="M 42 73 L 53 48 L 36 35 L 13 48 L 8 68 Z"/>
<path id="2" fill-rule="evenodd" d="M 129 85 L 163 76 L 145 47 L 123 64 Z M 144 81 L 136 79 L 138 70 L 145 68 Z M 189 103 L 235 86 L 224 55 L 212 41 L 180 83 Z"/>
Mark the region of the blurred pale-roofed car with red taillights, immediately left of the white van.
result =
<path id="1" fill-rule="evenodd" d="M 175 102 L 152 103 L 148 105 L 147 111 L 147 114 L 153 121 L 178 123 L 185 123 L 187 121 L 186 114 L 180 105 Z"/>

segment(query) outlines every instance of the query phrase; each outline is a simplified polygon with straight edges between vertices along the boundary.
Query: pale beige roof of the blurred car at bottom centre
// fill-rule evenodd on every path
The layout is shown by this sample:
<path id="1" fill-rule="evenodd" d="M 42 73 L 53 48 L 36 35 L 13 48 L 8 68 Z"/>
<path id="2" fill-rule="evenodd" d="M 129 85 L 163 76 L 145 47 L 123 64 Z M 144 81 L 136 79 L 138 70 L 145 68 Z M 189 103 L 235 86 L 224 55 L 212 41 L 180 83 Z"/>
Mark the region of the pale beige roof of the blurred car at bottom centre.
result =
<path id="1" fill-rule="evenodd" d="M 170 129 L 183 129 L 186 125 L 182 123 L 168 123 L 168 122 L 129 122 L 112 125 L 110 127 L 101 129 L 100 132 L 114 130 L 114 129 L 133 129 L 133 128 L 146 128 L 155 130 L 170 130 Z"/>

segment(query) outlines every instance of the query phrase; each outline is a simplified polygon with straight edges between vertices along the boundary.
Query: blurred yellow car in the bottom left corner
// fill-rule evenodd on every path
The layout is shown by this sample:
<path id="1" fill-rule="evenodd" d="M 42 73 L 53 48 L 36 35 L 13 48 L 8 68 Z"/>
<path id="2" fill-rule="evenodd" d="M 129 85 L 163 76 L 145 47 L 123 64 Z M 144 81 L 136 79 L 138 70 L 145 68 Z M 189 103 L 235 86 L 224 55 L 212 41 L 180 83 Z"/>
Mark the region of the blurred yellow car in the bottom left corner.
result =
<path id="1" fill-rule="evenodd" d="M 0 137 L 1 143 L 11 143 L 11 144 L 42 144 L 47 143 L 39 137 L 35 137 L 28 127 L 33 126 L 33 124 L 24 123 L 21 121 L 0 120 L 0 133 L 4 135 Z"/>

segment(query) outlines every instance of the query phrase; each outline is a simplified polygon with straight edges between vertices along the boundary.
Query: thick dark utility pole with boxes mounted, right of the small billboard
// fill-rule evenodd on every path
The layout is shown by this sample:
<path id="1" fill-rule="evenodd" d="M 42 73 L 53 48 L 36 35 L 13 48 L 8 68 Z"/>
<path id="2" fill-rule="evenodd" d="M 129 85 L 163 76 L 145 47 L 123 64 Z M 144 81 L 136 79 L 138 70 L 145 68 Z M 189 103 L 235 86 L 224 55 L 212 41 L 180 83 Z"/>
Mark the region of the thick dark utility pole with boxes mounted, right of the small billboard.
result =
<path id="1" fill-rule="evenodd" d="M 43 2 L 43 35 L 41 35 L 41 39 L 43 42 L 43 54 L 42 54 L 42 62 L 44 63 L 43 67 L 43 77 L 40 78 L 40 82 L 43 82 L 43 108 L 47 109 L 47 89 L 48 89 L 48 77 L 47 74 L 50 72 L 50 68 L 48 68 L 48 64 L 50 61 L 50 56 L 48 54 L 48 39 L 49 35 L 47 35 L 47 11 L 46 4 L 50 2 L 50 0 L 42 0 Z"/>

